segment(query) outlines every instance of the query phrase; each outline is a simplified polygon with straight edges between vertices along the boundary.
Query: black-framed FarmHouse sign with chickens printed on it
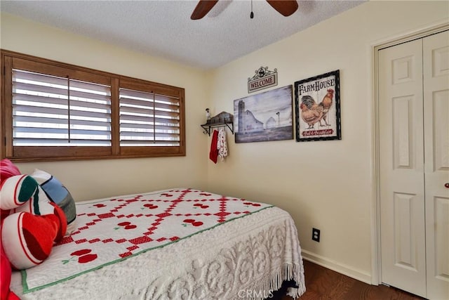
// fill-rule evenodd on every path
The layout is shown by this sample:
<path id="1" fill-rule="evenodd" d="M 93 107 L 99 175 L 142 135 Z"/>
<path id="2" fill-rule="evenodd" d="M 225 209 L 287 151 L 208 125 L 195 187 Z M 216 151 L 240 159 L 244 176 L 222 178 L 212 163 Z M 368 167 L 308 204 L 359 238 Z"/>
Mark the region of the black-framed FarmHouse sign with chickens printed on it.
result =
<path id="1" fill-rule="evenodd" d="M 296 141 L 341 140 L 340 70 L 295 82 Z"/>

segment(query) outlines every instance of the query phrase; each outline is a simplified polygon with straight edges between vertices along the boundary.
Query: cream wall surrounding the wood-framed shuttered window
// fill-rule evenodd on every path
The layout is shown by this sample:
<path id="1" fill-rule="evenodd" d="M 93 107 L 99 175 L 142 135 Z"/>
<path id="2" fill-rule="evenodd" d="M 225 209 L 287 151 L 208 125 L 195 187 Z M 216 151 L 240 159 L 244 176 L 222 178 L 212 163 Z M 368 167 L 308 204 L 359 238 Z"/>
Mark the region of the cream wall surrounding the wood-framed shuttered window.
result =
<path id="1" fill-rule="evenodd" d="M 22 173 L 46 170 L 65 183 L 76 200 L 173 187 L 206 188 L 207 140 L 199 127 L 208 100 L 204 72 L 4 13 L 0 46 L 185 88 L 186 157 L 18 163 Z"/>

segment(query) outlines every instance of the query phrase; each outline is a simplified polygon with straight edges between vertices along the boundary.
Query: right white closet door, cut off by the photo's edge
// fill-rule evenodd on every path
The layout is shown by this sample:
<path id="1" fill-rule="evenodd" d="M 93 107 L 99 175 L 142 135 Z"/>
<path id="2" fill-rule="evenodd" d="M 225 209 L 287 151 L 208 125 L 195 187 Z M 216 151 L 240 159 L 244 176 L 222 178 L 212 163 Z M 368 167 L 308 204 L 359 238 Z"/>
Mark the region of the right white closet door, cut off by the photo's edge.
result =
<path id="1" fill-rule="evenodd" d="M 449 299 L 449 32 L 423 39 L 423 59 L 427 298 Z"/>

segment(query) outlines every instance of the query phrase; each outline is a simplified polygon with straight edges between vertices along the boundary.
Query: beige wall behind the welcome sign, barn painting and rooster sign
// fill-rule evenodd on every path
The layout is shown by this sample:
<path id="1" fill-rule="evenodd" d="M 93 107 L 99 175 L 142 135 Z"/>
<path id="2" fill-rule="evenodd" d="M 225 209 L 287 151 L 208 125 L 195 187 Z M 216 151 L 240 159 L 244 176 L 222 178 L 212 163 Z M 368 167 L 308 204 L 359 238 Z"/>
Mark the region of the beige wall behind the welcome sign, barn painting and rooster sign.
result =
<path id="1" fill-rule="evenodd" d="M 278 69 L 277 87 L 339 69 L 342 141 L 235 144 L 229 136 L 227 162 L 208 162 L 209 190 L 279 205 L 295 219 L 309 257 L 370 282 L 371 46 L 448 22 L 448 12 L 447 1 L 369 2 L 215 70 L 210 107 L 232 112 L 261 65 Z M 321 229 L 321 242 L 311 240 L 312 227 Z"/>

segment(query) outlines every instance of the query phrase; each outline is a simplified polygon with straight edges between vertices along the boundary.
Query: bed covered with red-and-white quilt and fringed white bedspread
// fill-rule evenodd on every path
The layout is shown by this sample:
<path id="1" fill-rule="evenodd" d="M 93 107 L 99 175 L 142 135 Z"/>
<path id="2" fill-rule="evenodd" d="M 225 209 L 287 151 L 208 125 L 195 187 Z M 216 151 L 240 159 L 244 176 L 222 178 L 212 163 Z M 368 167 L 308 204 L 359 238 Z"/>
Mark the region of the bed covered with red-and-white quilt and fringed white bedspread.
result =
<path id="1" fill-rule="evenodd" d="M 76 202 L 76 230 L 13 272 L 20 299 L 267 299 L 305 292 L 297 230 L 269 204 L 192 188 Z"/>

